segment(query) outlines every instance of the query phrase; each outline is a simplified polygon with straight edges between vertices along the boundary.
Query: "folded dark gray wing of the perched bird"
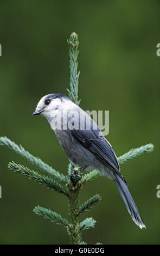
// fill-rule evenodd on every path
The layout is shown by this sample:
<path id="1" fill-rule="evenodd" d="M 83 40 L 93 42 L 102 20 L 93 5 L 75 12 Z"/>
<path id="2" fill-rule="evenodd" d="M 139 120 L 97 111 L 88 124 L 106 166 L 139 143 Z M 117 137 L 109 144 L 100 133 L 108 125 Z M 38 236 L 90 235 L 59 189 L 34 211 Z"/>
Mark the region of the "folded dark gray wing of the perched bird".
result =
<path id="1" fill-rule="evenodd" d="M 111 145 L 107 142 L 106 138 L 101 135 L 102 132 L 99 127 L 97 130 L 72 130 L 71 132 L 86 149 L 95 155 L 101 162 L 107 164 L 107 166 L 109 166 L 113 172 L 120 176 L 120 178 L 126 183 L 120 173 L 116 154 L 114 153 Z M 101 132 L 100 135 L 99 132 Z"/>

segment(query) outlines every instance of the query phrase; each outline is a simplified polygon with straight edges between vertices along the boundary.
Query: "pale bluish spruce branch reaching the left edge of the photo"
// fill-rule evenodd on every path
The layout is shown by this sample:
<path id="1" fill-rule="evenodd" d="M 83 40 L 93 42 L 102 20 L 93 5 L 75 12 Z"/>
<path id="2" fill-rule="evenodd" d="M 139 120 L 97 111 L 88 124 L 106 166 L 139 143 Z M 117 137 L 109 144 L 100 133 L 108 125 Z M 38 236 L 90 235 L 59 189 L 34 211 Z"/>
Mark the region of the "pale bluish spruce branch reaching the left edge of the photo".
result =
<path id="1" fill-rule="evenodd" d="M 25 150 L 21 145 L 18 146 L 15 142 L 12 142 L 6 136 L 0 138 L 0 145 L 4 145 L 27 159 L 30 163 L 36 166 L 38 169 L 42 170 L 42 172 L 47 173 L 52 176 L 53 179 L 59 181 L 62 184 L 67 183 L 67 178 L 65 175 L 60 174 L 55 169 L 50 167 L 47 163 L 44 163 L 39 157 L 35 157 L 31 155 L 27 150 Z"/>

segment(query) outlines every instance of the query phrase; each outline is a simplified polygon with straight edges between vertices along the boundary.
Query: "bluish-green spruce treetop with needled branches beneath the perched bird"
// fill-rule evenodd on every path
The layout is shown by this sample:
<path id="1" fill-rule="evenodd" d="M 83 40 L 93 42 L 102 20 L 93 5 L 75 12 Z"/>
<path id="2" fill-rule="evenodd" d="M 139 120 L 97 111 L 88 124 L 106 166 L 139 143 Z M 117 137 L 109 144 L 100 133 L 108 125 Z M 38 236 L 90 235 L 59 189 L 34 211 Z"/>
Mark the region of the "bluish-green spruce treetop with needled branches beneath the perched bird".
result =
<path id="1" fill-rule="evenodd" d="M 70 57 L 70 90 L 67 89 L 69 97 L 72 101 L 79 105 L 80 100 L 78 100 L 78 35 L 72 33 L 69 40 L 69 57 Z M 83 212 L 89 211 L 93 205 L 100 202 L 101 197 L 99 194 L 86 200 L 85 203 L 80 205 L 79 203 L 79 192 L 82 189 L 82 185 L 87 184 L 100 176 L 98 170 L 92 170 L 89 173 L 82 174 L 79 167 L 74 166 L 73 163 L 68 164 L 68 175 L 63 175 L 57 172 L 55 169 L 50 167 L 47 163 L 44 163 L 39 157 L 31 155 L 27 150 L 25 150 L 21 145 L 18 146 L 15 142 L 12 142 L 7 137 L 0 138 L 0 144 L 8 147 L 16 153 L 20 154 L 22 157 L 27 159 L 36 168 L 40 169 L 43 173 L 42 175 L 34 170 L 30 170 L 27 167 L 22 166 L 14 162 L 9 163 L 9 169 L 28 176 L 29 179 L 39 182 L 40 184 L 48 187 L 49 189 L 65 194 L 68 198 L 68 210 L 70 220 L 62 218 L 60 214 L 56 212 L 43 208 L 42 206 L 35 206 L 34 212 L 36 215 L 47 218 L 52 222 L 63 225 L 66 228 L 67 233 L 70 236 L 71 244 L 86 245 L 87 243 L 82 241 L 82 231 L 94 228 L 95 220 L 92 217 L 86 218 L 84 221 L 79 222 L 79 216 Z M 148 144 L 140 148 L 131 149 L 128 153 L 123 156 L 118 157 L 119 164 L 124 163 L 127 160 L 132 159 L 140 154 L 149 153 L 153 150 L 153 145 Z M 100 245 L 101 243 L 95 243 L 95 245 Z"/>

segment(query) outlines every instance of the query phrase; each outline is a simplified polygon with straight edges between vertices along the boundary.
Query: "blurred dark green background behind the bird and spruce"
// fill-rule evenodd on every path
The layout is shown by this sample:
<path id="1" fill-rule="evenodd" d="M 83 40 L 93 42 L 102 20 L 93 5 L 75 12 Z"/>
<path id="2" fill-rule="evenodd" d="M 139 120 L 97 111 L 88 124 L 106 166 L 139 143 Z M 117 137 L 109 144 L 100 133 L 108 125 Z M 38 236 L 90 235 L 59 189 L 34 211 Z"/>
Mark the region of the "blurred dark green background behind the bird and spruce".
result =
<path id="1" fill-rule="evenodd" d="M 67 94 L 67 39 L 78 33 L 81 107 L 110 111 L 107 136 L 117 156 L 153 143 L 151 154 L 121 166 L 146 230 L 132 221 L 113 181 L 101 177 L 84 186 L 80 200 L 95 193 L 99 205 L 84 214 L 97 220 L 84 231 L 92 244 L 157 244 L 160 240 L 159 175 L 159 1 L 5 1 L 0 4 L 1 136 L 22 144 L 66 174 L 68 159 L 42 117 L 33 117 L 48 93 Z M 0 243 L 67 244 L 60 225 L 37 217 L 35 205 L 68 217 L 67 199 L 8 170 L 8 162 L 30 164 L 0 147 Z M 32 167 L 34 169 L 34 167 Z"/>

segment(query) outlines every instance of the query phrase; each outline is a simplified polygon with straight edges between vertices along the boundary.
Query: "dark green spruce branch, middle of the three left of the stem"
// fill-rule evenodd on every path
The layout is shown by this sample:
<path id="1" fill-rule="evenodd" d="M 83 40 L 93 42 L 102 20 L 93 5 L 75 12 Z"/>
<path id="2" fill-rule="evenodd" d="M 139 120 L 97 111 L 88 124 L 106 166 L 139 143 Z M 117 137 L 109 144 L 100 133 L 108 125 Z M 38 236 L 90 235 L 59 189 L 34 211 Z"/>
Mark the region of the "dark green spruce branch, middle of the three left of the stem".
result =
<path id="1" fill-rule="evenodd" d="M 22 166 L 22 164 L 10 162 L 8 164 L 8 168 L 16 173 L 21 173 L 25 176 L 28 176 L 29 179 L 39 182 L 40 184 L 50 188 L 53 191 L 69 196 L 69 190 L 67 187 L 62 187 L 61 184 L 49 178 L 48 176 L 44 176 L 38 172 L 35 172 L 34 170 L 30 170 L 29 168 Z"/>

